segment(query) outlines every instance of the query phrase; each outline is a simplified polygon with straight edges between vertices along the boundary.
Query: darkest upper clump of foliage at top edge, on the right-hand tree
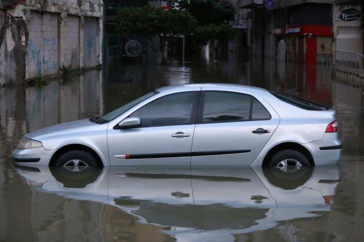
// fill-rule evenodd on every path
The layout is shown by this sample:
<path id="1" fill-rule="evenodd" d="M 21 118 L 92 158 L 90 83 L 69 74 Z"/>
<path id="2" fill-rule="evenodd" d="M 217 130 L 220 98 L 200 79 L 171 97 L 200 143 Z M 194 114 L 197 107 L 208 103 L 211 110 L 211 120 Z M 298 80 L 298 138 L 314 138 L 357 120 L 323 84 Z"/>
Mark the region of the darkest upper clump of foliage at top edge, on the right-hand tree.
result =
<path id="1" fill-rule="evenodd" d="M 199 25 L 227 23 L 236 14 L 230 0 L 182 0 L 180 8 L 191 13 Z"/>

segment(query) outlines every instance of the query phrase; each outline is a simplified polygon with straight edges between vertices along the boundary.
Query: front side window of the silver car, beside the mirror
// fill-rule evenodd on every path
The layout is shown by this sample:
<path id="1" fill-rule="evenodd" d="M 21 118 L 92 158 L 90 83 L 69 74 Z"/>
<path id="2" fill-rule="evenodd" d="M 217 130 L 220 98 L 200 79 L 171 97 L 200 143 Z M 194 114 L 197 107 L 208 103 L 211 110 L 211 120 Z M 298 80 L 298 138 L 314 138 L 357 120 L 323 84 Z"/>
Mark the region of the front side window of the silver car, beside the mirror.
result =
<path id="1" fill-rule="evenodd" d="M 195 123 L 196 95 L 196 91 L 166 95 L 142 106 L 129 117 L 140 118 L 140 127 L 192 124 Z"/>

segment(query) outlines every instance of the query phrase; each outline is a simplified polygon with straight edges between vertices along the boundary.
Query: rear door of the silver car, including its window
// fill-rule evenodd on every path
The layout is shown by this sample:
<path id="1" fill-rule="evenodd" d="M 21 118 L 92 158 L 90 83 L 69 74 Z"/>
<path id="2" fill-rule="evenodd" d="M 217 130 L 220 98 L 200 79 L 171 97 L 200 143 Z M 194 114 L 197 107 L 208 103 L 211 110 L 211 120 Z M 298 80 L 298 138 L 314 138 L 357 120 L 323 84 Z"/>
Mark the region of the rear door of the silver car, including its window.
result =
<path id="1" fill-rule="evenodd" d="M 202 91 L 191 165 L 250 165 L 279 121 L 278 114 L 262 97 L 231 91 Z"/>

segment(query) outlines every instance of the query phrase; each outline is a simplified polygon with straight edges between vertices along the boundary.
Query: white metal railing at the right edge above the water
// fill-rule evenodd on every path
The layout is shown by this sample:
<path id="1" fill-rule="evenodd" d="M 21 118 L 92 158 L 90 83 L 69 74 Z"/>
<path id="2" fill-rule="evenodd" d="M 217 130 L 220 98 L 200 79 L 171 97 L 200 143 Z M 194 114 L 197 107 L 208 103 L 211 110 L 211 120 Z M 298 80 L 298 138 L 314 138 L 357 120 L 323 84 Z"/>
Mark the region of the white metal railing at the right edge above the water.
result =
<path id="1" fill-rule="evenodd" d="M 364 69 L 364 55 L 354 51 L 333 50 L 332 68 L 349 73 L 357 73 Z"/>

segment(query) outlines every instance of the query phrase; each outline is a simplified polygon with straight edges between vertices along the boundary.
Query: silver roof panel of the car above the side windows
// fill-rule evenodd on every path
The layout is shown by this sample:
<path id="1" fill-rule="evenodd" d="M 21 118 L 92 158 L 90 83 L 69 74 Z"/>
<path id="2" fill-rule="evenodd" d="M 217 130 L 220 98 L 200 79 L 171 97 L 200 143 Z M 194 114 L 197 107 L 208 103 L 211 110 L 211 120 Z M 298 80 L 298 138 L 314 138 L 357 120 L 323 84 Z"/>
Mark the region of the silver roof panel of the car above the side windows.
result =
<path id="1" fill-rule="evenodd" d="M 238 85 L 238 84 L 225 84 L 225 83 L 196 83 L 196 84 L 184 84 L 184 85 L 173 85 L 173 86 L 165 86 L 156 89 L 158 92 L 180 92 L 183 89 L 191 89 L 196 88 L 199 90 L 201 88 L 211 88 L 211 90 L 219 90 L 221 91 L 241 91 L 241 92 L 267 92 L 267 90 L 258 87 L 246 86 L 246 85 Z"/>

